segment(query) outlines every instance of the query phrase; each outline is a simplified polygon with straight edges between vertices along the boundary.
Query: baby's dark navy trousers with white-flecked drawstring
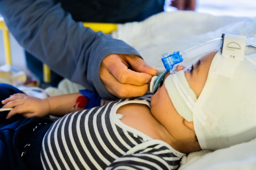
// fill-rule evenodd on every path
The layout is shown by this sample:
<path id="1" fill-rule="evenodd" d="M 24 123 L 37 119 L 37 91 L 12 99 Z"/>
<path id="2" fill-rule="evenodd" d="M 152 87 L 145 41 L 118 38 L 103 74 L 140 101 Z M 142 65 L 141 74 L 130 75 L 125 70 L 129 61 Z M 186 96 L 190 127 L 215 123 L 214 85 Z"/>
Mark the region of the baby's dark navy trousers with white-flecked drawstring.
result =
<path id="1" fill-rule="evenodd" d="M 23 92 L 11 85 L 0 84 L 0 100 L 14 93 Z M 1 170 L 42 169 L 41 144 L 52 121 L 39 117 L 24 118 L 19 114 L 6 120 L 7 114 L 8 111 L 0 112 Z"/>

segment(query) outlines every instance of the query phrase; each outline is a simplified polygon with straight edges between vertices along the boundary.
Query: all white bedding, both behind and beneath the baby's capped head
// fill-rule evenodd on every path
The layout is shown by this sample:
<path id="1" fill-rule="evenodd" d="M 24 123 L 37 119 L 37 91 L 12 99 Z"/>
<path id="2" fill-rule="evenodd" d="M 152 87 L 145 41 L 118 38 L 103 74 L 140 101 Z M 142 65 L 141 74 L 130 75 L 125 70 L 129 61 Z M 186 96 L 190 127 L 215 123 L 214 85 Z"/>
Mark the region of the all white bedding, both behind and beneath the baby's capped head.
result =
<path id="1" fill-rule="evenodd" d="M 164 67 L 159 60 L 162 54 L 183 51 L 220 38 L 222 33 L 253 37 L 256 18 L 211 16 L 185 11 L 160 13 L 143 22 L 119 25 L 118 31 L 112 36 L 132 45 L 149 65 L 162 72 Z M 245 54 L 256 62 L 255 48 L 247 47 Z M 183 64 L 190 65 L 199 57 Z M 255 148 L 256 139 L 215 152 L 193 152 L 182 158 L 180 169 L 256 169 Z"/>

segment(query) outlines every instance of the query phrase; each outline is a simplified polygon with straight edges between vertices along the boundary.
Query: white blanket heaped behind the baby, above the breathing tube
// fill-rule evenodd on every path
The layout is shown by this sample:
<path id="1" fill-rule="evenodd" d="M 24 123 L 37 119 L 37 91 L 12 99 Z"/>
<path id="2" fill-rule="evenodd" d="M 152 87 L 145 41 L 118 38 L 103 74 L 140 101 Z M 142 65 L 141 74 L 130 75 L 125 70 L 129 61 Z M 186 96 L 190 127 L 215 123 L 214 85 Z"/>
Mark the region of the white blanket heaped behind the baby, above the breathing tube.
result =
<path id="1" fill-rule="evenodd" d="M 112 36 L 132 45 L 149 65 L 162 72 L 164 67 L 159 60 L 162 54 L 186 50 L 220 38 L 222 33 L 253 37 L 255 25 L 255 18 L 212 16 L 189 11 L 163 12 L 143 22 L 119 25 Z M 193 63 L 198 58 L 183 64 Z"/>

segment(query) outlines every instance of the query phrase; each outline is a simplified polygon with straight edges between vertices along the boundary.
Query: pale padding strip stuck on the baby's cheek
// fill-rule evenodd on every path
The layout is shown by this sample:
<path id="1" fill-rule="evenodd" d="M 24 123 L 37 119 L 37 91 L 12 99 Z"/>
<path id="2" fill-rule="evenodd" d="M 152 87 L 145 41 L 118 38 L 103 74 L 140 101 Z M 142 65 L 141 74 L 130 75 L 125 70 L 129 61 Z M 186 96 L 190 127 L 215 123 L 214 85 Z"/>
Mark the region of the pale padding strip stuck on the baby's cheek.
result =
<path id="1" fill-rule="evenodd" d="M 178 82 L 177 82 L 177 79 L 178 79 Z M 179 91 L 182 91 L 182 90 L 179 89 L 179 86 L 177 85 L 177 83 L 182 84 L 183 86 L 182 90 L 186 91 L 187 96 L 189 96 L 190 100 L 192 100 L 193 102 L 196 101 L 196 94 L 189 87 L 188 81 L 185 77 L 185 73 L 182 70 L 178 71 L 176 74 L 169 75 L 164 81 L 165 88 L 168 92 L 170 99 L 172 100 L 172 104 L 174 108 L 180 114 L 180 116 L 182 116 L 188 122 L 191 122 L 193 121 L 192 111 L 188 107 L 188 101 L 184 100 L 184 96 L 186 95 L 184 93 L 180 94 Z M 178 86 L 178 89 L 177 89 L 177 86 Z"/>

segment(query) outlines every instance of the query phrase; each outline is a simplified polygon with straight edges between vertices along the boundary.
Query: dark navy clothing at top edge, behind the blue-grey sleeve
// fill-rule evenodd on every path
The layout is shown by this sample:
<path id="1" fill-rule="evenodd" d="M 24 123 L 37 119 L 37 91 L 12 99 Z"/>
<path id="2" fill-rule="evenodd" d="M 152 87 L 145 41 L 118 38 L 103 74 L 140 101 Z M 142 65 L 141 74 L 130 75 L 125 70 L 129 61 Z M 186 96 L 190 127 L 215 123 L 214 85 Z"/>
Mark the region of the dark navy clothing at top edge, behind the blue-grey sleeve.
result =
<path id="1" fill-rule="evenodd" d="M 57 0 L 75 21 L 125 23 L 164 11 L 164 0 Z"/>

